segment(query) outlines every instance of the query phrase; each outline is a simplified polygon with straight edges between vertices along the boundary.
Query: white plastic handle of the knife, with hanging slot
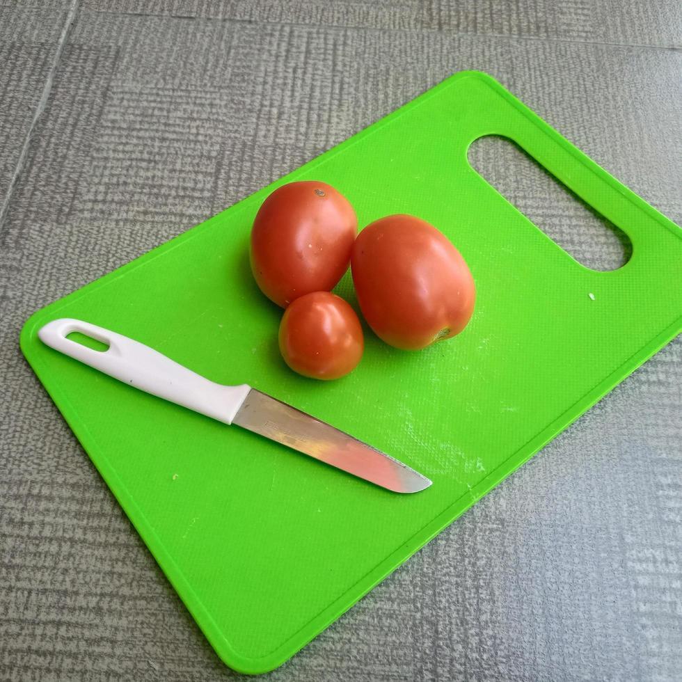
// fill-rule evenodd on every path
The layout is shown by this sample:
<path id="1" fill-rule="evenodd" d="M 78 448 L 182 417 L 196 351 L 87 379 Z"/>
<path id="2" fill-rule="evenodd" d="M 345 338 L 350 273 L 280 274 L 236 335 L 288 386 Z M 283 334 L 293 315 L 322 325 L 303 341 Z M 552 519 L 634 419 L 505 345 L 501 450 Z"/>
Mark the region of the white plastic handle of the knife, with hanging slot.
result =
<path id="1" fill-rule="evenodd" d="M 68 339 L 74 331 L 109 346 L 95 351 Z M 223 386 L 166 358 L 145 344 L 79 319 L 56 319 L 38 331 L 40 340 L 123 383 L 200 412 L 225 424 L 246 399 L 250 386 Z"/>

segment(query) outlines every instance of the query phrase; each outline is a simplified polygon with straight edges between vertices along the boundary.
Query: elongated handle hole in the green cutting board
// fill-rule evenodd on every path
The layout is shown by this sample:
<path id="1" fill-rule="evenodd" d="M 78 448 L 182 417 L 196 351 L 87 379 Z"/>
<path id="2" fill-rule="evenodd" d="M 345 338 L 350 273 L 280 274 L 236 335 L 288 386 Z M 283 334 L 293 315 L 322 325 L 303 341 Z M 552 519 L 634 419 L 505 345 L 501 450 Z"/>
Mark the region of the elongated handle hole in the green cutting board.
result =
<path id="1" fill-rule="evenodd" d="M 470 145 L 468 159 L 488 184 L 580 264 L 608 271 L 630 260 L 628 235 L 511 139 L 479 137 Z"/>

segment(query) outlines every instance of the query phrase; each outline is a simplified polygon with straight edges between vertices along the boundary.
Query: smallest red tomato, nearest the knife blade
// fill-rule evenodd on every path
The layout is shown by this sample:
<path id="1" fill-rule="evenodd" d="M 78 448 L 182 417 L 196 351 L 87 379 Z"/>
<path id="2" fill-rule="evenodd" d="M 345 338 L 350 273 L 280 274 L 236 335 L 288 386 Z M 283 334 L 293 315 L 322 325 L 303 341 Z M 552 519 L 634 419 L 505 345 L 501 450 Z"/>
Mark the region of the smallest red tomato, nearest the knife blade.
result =
<path id="1" fill-rule="evenodd" d="M 330 292 L 296 299 L 280 324 L 280 352 L 294 372 L 312 379 L 338 379 L 363 356 L 363 328 L 346 301 Z"/>

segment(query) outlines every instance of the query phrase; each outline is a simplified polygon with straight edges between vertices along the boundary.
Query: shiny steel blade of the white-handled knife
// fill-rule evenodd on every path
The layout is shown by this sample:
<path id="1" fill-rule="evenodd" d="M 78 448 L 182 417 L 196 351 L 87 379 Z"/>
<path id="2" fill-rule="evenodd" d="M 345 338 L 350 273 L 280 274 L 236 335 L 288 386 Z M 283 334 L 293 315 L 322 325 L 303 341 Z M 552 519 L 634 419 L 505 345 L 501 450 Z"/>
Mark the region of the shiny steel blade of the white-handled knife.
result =
<path id="1" fill-rule="evenodd" d="M 232 423 L 397 493 L 417 493 L 431 485 L 388 454 L 255 388 Z"/>

